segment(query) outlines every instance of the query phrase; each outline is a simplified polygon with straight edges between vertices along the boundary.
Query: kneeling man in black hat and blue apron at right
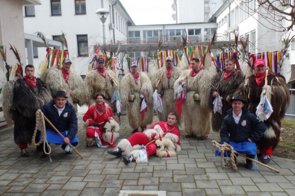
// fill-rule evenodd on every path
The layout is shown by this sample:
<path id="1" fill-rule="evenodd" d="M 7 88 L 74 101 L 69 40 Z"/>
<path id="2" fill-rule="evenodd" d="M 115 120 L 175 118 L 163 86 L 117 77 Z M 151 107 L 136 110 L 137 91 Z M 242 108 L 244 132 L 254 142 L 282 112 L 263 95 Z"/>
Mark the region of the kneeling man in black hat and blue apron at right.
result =
<path id="1" fill-rule="evenodd" d="M 230 144 L 237 152 L 254 158 L 256 143 L 266 131 L 266 125 L 244 107 L 246 100 L 241 95 L 234 96 L 230 102 L 232 109 L 228 110 L 220 128 L 221 144 Z M 252 166 L 252 161 L 246 159 L 246 169 L 252 169 Z"/>

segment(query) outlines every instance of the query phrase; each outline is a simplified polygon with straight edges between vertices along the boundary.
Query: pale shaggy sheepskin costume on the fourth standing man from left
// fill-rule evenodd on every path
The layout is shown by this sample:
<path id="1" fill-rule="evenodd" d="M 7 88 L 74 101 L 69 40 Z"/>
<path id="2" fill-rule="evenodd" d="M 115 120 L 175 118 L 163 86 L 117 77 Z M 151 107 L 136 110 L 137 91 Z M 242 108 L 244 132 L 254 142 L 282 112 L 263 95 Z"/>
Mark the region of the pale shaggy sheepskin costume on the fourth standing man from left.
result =
<path id="1" fill-rule="evenodd" d="M 127 118 L 130 126 L 133 129 L 145 127 L 147 124 L 152 123 L 153 115 L 153 100 L 152 100 L 152 86 L 150 79 L 146 73 L 140 72 L 138 84 L 136 84 L 131 73 L 127 73 L 121 80 L 120 85 L 120 98 L 122 106 L 127 108 Z M 141 114 L 141 98 L 140 95 L 147 92 L 147 111 L 144 119 L 142 120 Z M 129 100 L 129 96 L 134 95 L 134 100 Z"/>

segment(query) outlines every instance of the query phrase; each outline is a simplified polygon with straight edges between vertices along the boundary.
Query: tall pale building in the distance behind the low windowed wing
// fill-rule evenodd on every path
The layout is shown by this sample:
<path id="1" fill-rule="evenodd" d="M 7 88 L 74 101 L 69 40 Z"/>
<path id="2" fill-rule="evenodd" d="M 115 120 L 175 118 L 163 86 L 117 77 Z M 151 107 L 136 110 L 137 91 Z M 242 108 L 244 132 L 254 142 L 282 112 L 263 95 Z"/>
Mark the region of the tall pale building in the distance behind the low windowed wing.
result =
<path id="1" fill-rule="evenodd" d="M 204 23 L 222 5 L 224 0 L 173 0 L 175 11 L 172 18 L 176 23 Z"/>

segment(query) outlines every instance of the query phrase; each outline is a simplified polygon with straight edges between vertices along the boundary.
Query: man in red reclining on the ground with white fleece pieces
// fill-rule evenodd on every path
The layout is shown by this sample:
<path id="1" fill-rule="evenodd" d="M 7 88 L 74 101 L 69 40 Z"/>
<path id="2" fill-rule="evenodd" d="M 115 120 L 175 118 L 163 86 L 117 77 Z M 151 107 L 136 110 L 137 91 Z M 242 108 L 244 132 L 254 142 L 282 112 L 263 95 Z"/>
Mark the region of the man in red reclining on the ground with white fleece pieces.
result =
<path id="1" fill-rule="evenodd" d="M 125 155 L 123 159 L 126 165 L 136 160 L 141 146 L 147 144 L 148 156 L 153 154 L 159 157 L 175 156 L 176 152 L 181 150 L 180 132 L 176 123 L 176 114 L 169 113 L 167 122 L 155 123 L 144 132 L 134 133 L 128 139 L 121 140 L 118 146 L 114 150 L 109 150 L 108 153 L 117 158 Z"/>

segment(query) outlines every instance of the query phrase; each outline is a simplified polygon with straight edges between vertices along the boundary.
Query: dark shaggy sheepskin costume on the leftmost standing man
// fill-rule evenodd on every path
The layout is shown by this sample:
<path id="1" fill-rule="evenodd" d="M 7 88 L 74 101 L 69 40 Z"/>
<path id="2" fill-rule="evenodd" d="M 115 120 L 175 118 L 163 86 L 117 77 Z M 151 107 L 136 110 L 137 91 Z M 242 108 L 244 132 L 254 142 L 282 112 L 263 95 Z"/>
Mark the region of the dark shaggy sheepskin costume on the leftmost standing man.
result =
<path id="1" fill-rule="evenodd" d="M 14 141 L 18 146 L 30 144 L 36 123 L 36 111 L 41 100 L 49 102 L 52 97 L 46 84 L 36 78 L 35 88 L 25 79 L 8 81 L 3 90 L 4 117 L 8 125 L 14 121 Z M 11 118 L 11 119 L 10 119 Z"/>

